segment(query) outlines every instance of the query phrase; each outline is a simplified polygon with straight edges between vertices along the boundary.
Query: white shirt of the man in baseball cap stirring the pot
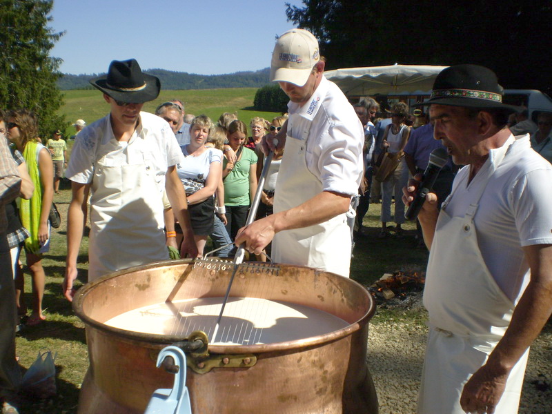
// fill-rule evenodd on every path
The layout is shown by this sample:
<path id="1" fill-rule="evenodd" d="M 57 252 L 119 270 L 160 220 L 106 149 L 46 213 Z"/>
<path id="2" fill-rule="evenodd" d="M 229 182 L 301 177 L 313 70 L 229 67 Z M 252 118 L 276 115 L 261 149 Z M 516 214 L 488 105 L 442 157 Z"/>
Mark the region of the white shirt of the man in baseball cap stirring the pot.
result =
<path id="1" fill-rule="evenodd" d="M 287 139 L 305 139 L 308 134 L 306 164 L 322 181 L 322 190 L 356 195 L 364 130 L 343 92 L 322 77 L 311 100 L 303 106 L 290 101 L 288 112 Z"/>

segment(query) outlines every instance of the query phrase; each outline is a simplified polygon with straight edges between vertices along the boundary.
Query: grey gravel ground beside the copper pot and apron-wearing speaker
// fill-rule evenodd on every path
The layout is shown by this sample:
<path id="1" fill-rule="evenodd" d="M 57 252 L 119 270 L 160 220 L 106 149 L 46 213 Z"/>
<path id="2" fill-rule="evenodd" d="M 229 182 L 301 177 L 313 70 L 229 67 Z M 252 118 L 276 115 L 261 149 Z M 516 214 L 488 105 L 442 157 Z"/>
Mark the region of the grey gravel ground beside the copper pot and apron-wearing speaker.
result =
<path id="1" fill-rule="evenodd" d="M 409 305 L 418 308 L 420 301 L 413 299 Z M 395 306 L 401 305 L 392 302 L 388 307 Z M 404 306 L 405 316 L 411 309 L 411 306 Z M 384 319 L 376 314 L 368 333 L 368 366 L 375 382 L 380 414 L 413 414 L 416 412 L 428 329 L 420 322 L 408 322 L 408 317 L 399 318 L 402 320 L 397 322 Z M 552 413 L 551 388 L 540 391 L 535 384 L 542 379 L 540 374 L 544 374 L 547 384 L 551 384 L 551 322 L 531 347 L 520 414 Z"/>

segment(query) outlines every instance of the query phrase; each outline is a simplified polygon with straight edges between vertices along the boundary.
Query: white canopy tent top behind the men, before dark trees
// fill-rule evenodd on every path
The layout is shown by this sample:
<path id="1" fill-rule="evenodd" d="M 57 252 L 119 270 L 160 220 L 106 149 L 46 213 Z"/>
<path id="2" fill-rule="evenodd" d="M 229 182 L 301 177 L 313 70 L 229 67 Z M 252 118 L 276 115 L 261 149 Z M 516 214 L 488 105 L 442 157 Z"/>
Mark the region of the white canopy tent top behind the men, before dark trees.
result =
<path id="1" fill-rule="evenodd" d="M 347 96 L 428 95 L 435 77 L 447 66 L 391 65 L 324 72 Z"/>

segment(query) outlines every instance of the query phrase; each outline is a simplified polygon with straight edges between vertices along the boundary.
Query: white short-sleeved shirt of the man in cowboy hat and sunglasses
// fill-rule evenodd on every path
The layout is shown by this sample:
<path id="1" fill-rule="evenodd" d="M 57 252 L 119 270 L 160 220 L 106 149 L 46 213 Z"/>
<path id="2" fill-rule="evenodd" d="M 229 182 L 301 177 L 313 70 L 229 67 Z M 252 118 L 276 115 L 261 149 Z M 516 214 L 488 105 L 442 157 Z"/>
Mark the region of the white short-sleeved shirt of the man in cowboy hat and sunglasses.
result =
<path id="1" fill-rule="evenodd" d="M 159 190 L 165 187 L 167 168 L 184 159 L 175 134 L 167 122 L 148 112 L 140 112 L 140 124 L 128 142 L 113 135 L 111 115 L 98 119 L 79 133 L 71 151 L 66 177 L 80 184 L 90 184 L 97 159 L 106 157 L 107 166 L 141 164 L 152 159 Z"/>

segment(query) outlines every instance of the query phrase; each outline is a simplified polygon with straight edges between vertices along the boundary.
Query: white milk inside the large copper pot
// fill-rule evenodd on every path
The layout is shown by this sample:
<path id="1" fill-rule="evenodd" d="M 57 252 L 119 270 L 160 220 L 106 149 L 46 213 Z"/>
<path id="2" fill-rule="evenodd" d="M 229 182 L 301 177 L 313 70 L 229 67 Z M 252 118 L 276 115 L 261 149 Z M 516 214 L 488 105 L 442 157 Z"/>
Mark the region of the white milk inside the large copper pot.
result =
<path id="1" fill-rule="evenodd" d="M 126 331 L 186 337 L 204 331 L 212 341 L 223 298 L 163 302 L 122 313 L 105 322 Z M 230 297 L 224 308 L 217 345 L 254 345 L 315 337 L 348 326 L 319 309 L 253 297 Z"/>

